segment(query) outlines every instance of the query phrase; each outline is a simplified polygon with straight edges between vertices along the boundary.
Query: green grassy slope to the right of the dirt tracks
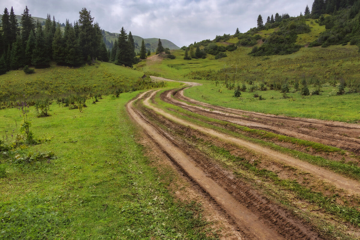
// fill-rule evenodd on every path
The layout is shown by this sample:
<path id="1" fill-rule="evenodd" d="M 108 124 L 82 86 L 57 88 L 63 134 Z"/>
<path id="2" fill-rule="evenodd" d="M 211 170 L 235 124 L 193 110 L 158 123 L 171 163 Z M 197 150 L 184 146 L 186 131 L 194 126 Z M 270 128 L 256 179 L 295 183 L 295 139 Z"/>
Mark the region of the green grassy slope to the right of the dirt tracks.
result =
<path id="1" fill-rule="evenodd" d="M 303 44 L 306 43 L 305 41 L 312 41 L 312 38 L 323 28 L 323 26 L 312 21 L 307 21 L 313 27 L 311 32 L 306 36 L 301 36 Z M 262 31 L 260 34 L 265 37 L 265 33 L 268 35 L 272 31 L 274 30 Z M 237 39 L 232 38 L 228 42 L 236 41 Z M 321 81 L 336 80 L 339 82 L 339 79 L 343 78 L 347 82 L 352 80 L 358 82 L 360 58 L 357 50 L 358 47 L 350 45 L 327 48 L 303 47 L 297 53 L 290 55 L 252 57 L 247 55 L 251 51 L 250 47 L 238 47 L 234 52 L 226 52 L 227 58 L 219 60 L 215 60 L 212 55 L 207 55 L 206 59 L 183 60 L 184 51 L 176 50 L 173 51 L 177 57 L 174 60 L 143 61 L 137 65 L 137 68 L 157 72 L 163 77 L 176 80 L 201 82 L 203 83 L 202 86 L 185 90 L 185 95 L 214 105 L 255 112 L 285 114 L 292 117 L 359 122 L 359 94 L 329 96 L 337 91 L 337 87 L 328 84 L 323 85 L 322 95 L 302 97 L 298 92 L 295 92 L 288 94 L 288 96 L 293 97 L 290 100 L 280 99 L 282 96 L 280 91 L 257 91 L 266 99 L 258 101 L 257 98 L 252 97 L 254 93 L 249 92 L 243 92 L 239 99 L 233 98 L 234 90 L 226 89 L 224 78 L 220 78 L 219 85 L 215 86 L 215 82 L 204 79 L 194 80 L 184 76 L 191 71 L 218 70 L 224 68 L 225 64 L 236 64 L 239 72 L 235 78 L 235 86 L 238 83 L 241 85 L 246 80 L 252 80 L 256 84 L 271 81 L 301 82 L 302 77 L 305 77 L 307 81 L 319 79 Z M 249 87 L 248 84 L 247 87 Z M 314 88 L 314 86 L 309 85 L 310 91 Z"/>

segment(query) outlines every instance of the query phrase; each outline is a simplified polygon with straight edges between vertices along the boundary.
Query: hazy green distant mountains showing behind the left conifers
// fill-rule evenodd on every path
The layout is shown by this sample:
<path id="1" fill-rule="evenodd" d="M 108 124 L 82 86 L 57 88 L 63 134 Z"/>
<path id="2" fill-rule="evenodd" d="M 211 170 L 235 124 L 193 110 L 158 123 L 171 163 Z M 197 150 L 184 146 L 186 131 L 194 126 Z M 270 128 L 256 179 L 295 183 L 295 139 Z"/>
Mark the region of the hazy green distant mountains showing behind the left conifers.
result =
<path id="1" fill-rule="evenodd" d="M 2 16 L 3 15 L 0 14 L 0 22 Z M 20 24 L 21 15 L 16 15 L 16 18 L 18 19 L 18 23 Z M 38 18 L 38 17 L 32 17 L 32 18 L 35 20 L 35 22 L 39 21 L 42 25 L 45 24 L 45 20 L 46 20 L 45 18 Z M 60 23 L 60 24 L 63 25 L 64 23 Z M 106 47 L 111 49 L 113 45 L 111 44 L 111 42 L 114 43 L 118 36 L 119 33 L 111 33 L 107 31 L 103 31 L 103 39 Z M 134 42 L 135 42 L 135 53 L 140 52 L 141 41 L 143 40 L 143 38 L 135 35 L 133 35 L 132 37 L 134 38 Z M 146 50 L 150 50 L 151 52 L 156 51 L 158 40 L 159 40 L 158 38 L 144 39 Z M 176 46 L 174 43 L 172 43 L 169 40 L 161 39 L 161 42 L 164 48 L 168 47 L 170 50 L 180 49 L 180 47 Z"/>

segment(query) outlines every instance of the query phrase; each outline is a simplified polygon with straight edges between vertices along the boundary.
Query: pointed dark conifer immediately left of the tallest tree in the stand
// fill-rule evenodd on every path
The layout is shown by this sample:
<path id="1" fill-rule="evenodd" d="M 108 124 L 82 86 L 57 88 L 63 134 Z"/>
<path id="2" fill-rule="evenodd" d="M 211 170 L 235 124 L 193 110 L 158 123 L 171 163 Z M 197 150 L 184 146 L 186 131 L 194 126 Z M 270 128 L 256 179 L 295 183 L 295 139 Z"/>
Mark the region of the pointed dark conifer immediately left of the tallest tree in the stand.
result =
<path id="1" fill-rule="evenodd" d="M 75 30 L 66 19 L 64 30 L 64 63 L 67 65 L 78 66 L 84 63 L 81 47 L 75 34 Z"/>

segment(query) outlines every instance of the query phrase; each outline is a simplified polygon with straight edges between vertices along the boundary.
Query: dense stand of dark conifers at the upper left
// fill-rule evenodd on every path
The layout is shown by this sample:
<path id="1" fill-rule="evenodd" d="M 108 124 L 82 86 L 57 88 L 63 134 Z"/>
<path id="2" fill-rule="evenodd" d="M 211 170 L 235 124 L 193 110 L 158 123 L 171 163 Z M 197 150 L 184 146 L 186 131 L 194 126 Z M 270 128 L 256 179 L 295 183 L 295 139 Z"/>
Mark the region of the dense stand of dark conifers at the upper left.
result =
<path id="1" fill-rule="evenodd" d="M 73 24 L 66 20 L 64 30 L 47 15 L 45 24 L 35 23 L 27 6 L 20 26 L 13 7 L 4 9 L 0 30 L 0 73 L 16 70 L 26 65 L 46 68 L 54 61 L 60 65 L 78 66 L 93 62 L 95 58 L 108 60 L 102 41 L 102 31 L 94 23 L 90 11 L 83 8 L 80 18 Z"/>

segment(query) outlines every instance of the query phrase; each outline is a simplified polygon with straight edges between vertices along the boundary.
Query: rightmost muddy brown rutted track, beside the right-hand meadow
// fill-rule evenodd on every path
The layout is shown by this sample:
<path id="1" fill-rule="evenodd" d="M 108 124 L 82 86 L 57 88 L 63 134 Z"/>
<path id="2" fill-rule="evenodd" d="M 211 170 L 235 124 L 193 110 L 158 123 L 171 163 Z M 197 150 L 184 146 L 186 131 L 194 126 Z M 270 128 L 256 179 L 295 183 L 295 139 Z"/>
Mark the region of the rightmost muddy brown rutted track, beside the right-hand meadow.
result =
<path id="1" fill-rule="evenodd" d="M 172 98 L 171 95 L 174 95 L 175 98 Z M 249 128 L 319 142 L 328 146 L 352 151 L 355 154 L 360 155 L 359 124 L 309 118 L 291 118 L 224 108 L 188 98 L 184 96 L 184 89 L 180 91 L 169 90 L 167 94 L 163 94 L 163 96 L 165 96 L 163 100 L 168 103 L 183 107 L 191 112 L 199 113 L 204 116 L 236 123 Z M 190 105 L 177 99 L 198 106 Z"/>

